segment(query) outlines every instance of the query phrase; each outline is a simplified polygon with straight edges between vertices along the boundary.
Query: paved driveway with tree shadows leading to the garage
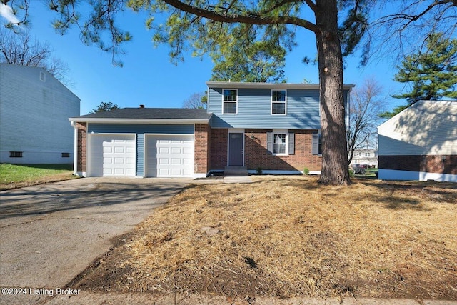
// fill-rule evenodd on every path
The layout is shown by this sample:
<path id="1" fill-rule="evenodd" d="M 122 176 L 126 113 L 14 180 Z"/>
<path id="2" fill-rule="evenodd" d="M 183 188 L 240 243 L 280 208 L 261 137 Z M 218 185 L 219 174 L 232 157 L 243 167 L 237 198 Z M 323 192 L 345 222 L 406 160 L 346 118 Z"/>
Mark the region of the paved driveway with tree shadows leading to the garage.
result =
<path id="1" fill-rule="evenodd" d="M 189 183 L 84 178 L 0 192 L 0 304 L 46 301 Z"/>

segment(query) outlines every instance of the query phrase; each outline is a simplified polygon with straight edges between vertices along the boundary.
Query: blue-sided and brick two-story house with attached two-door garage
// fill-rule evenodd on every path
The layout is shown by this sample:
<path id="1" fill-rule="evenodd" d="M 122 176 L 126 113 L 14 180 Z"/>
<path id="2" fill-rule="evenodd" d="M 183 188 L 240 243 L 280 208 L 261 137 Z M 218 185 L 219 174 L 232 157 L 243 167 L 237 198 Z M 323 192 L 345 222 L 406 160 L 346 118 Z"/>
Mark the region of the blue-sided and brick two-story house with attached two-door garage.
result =
<path id="1" fill-rule="evenodd" d="M 320 172 L 318 85 L 206 84 L 207 109 L 141 105 L 70 118 L 76 174 L 204 177 L 226 166 Z M 352 87 L 344 87 L 346 103 Z"/>

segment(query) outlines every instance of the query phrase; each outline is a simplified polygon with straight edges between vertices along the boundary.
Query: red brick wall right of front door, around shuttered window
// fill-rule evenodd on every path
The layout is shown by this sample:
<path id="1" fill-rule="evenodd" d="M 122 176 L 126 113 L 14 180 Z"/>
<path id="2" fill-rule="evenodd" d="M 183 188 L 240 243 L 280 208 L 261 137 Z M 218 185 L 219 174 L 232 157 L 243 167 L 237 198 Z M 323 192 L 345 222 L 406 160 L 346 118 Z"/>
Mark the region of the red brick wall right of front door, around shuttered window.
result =
<path id="1" fill-rule="evenodd" d="M 295 134 L 295 154 L 273 156 L 266 148 L 266 133 L 271 129 L 246 129 L 244 135 L 244 164 L 248 169 L 320 171 L 322 159 L 312 154 L 313 130 L 290 130 Z"/>

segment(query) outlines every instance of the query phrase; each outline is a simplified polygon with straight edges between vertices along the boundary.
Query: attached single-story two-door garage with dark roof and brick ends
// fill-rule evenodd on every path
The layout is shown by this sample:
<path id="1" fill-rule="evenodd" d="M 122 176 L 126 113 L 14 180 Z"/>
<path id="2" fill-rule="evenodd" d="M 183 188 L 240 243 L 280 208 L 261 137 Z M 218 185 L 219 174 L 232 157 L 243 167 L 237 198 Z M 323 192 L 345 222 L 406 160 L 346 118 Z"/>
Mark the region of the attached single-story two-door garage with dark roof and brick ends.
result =
<path id="1" fill-rule="evenodd" d="M 122 108 L 69 118 L 79 176 L 199 178 L 209 171 L 206 109 Z"/>

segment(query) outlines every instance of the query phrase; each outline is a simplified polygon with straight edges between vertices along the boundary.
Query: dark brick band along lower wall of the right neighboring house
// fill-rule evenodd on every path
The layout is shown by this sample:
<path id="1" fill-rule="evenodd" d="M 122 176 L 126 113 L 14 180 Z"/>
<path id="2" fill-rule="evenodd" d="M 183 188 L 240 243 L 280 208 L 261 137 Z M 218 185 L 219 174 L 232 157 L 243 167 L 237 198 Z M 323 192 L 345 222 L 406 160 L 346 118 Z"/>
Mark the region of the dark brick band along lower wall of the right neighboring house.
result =
<path id="1" fill-rule="evenodd" d="M 443 160 L 443 157 L 445 158 Z M 379 156 L 380 169 L 399 171 L 421 171 L 437 174 L 457 174 L 456 155 L 411 155 L 411 156 Z"/>

